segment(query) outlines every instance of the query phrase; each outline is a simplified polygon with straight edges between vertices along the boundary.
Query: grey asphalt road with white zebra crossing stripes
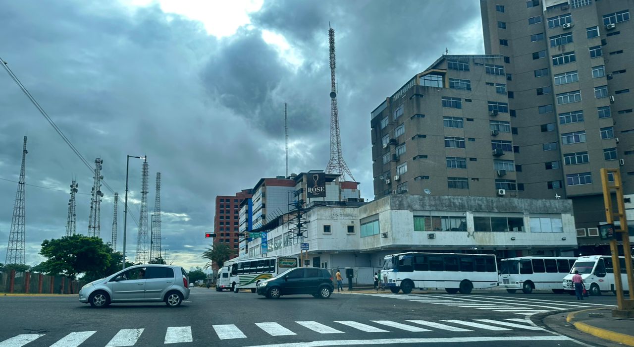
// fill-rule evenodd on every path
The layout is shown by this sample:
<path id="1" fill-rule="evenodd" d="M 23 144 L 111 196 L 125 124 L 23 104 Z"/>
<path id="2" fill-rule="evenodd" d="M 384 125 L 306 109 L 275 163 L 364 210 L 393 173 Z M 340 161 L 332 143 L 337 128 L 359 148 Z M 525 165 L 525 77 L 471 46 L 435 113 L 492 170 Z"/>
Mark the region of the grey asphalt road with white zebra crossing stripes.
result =
<path id="1" fill-rule="evenodd" d="M 14 346 L 579 346 L 531 316 L 612 306 L 612 295 L 333 293 L 330 299 L 194 288 L 179 308 L 76 296 L 0 296 L 0 347 Z M 596 344 L 589 343 L 594 346 Z"/>

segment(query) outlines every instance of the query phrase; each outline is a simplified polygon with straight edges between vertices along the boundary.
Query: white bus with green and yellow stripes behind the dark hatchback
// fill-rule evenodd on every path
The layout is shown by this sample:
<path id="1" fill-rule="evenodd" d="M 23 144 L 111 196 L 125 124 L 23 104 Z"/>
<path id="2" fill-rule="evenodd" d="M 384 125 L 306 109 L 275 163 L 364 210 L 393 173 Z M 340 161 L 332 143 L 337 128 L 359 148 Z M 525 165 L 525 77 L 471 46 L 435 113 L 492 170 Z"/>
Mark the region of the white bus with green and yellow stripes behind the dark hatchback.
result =
<path id="1" fill-rule="evenodd" d="M 229 281 L 231 290 L 238 292 L 240 289 L 251 289 L 256 292 L 257 285 L 278 273 L 297 267 L 297 257 L 275 256 L 266 258 L 252 258 L 238 260 L 231 265 Z"/>

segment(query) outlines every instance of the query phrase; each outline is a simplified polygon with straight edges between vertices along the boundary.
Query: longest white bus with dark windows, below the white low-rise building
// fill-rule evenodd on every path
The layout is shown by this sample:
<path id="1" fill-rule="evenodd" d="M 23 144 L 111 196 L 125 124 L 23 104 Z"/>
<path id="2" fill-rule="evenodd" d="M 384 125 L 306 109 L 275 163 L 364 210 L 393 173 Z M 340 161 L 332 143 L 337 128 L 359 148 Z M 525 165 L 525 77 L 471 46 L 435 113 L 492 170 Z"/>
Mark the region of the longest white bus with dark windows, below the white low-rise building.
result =
<path id="1" fill-rule="evenodd" d="M 444 288 L 450 294 L 498 285 L 493 254 L 406 252 L 385 256 L 380 281 L 393 293 L 414 288 Z"/>

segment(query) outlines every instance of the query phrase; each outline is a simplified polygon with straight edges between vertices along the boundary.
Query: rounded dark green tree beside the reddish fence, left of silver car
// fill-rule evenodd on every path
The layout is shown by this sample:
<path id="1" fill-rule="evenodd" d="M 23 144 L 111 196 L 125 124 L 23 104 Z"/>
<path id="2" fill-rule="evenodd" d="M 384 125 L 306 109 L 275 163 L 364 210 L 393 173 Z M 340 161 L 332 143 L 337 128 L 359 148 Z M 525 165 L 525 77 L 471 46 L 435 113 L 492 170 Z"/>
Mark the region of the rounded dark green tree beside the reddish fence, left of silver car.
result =
<path id="1" fill-rule="evenodd" d="M 75 279 L 82 272 L 105 273 L 112 260 L 111 251 L 98 237 L 75 234 L 44 240 L 40 254 L 47 258 L 44 264 L 49 272 Z"/>

